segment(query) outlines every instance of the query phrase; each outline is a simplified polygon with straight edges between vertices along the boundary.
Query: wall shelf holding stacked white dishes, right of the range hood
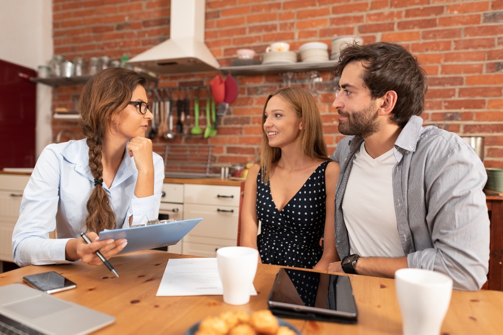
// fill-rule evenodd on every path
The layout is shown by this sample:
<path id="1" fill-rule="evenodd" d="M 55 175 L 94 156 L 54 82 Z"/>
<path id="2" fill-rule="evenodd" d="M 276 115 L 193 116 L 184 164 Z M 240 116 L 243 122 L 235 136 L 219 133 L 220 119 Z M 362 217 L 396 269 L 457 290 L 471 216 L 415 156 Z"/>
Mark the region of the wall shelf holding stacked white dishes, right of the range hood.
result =
<path id="1" fill-rule="evenodd" d="M 338 60 L 328 60 L 323 62 L 296 62 L 296 63 L 273 63 L 259 65 L 241 65 L 241 66 L 221 66 L 219 71 L 233 75 L 262 75 L 278 74 L 285 72 L 308 72 L 333 71 L 339 63 Z"/>

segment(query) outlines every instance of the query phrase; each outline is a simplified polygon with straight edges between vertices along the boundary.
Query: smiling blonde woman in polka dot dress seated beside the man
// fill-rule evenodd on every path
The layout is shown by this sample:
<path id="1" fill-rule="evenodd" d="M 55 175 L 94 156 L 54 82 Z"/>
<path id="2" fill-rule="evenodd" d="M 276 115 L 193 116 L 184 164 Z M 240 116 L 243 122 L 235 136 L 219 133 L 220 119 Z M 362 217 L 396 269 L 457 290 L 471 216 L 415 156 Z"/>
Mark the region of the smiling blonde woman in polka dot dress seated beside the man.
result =
<path id="1" fill-rule="evenodd" d="M 240 244 L 258 249 L 262 263 L 326 270 L 338 260 L 333 203 L 339 164 L 327 158 L 316 102 L 302 88 L 276 90 L 266 100 L 262 125 L 260 157 L 245 181 Z"/>

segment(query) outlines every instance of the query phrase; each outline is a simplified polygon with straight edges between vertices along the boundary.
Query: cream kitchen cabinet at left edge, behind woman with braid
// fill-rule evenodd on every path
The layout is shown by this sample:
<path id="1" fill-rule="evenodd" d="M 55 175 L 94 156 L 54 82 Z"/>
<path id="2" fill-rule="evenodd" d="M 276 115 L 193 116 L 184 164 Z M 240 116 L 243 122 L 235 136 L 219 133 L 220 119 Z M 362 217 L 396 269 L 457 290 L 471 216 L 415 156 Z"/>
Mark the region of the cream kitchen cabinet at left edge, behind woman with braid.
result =
<path id="1" fill-rule="evenodd" d="M 29 179 L 28 175 L 0 175 L 0 261 L 12 262 L 12 232 Z"/>

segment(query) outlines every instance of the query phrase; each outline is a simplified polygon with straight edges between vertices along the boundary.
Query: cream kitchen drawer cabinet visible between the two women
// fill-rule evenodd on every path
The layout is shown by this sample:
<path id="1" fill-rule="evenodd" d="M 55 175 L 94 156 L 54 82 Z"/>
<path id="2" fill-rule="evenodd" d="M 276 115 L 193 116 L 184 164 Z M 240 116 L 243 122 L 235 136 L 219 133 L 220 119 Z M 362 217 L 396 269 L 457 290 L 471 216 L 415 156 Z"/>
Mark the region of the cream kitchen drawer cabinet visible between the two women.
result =
<path id="1" fill-rule="evenodd" d="M 237 245 L 239 193 L 239 186 L 184 185 L 184 219 L 203 217 L 182 240 L 185 255 L 216 257 Z"/>

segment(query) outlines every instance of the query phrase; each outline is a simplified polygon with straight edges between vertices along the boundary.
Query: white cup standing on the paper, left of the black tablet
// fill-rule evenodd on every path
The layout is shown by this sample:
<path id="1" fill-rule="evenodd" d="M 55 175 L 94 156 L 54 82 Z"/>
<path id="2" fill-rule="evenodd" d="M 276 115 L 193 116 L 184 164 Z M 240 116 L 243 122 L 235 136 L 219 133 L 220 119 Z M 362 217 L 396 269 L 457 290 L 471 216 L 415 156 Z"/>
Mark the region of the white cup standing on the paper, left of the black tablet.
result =
<path id="1" fill-rule="evenodd" d="M 217 250 L 218 274 L 222 281 L 223 301 L 244 305 L 250 301 L 259 252 L 248 247 L 224 247 Z"/>

